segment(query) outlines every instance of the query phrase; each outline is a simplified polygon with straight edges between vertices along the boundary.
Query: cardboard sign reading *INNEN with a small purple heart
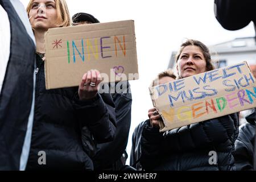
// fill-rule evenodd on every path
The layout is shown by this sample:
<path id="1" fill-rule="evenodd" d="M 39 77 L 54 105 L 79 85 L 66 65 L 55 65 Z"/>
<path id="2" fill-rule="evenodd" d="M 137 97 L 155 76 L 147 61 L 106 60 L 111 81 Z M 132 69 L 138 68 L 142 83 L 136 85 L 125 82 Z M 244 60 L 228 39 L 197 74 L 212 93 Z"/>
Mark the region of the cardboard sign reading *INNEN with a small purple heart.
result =
<path id="1" fill-rule="evenodd" d="M 51 28 L 45 43 L 46 89 L 77 86 L 90 69 L 102 82 L 138 79 L 133 20 Z"/>

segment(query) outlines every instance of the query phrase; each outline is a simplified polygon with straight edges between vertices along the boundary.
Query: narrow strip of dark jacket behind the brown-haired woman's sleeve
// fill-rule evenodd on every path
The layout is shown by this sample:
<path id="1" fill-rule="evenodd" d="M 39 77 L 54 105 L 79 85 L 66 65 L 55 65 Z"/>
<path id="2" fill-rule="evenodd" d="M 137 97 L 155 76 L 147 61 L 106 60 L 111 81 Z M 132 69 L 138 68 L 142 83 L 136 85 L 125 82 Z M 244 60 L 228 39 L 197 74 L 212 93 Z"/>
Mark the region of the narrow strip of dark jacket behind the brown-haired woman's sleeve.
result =
<path id="1" fill-rule="evenodd" d="M 141 158 L 141 134 L 143 130 L 143 124 L 144 121 L 139 123 L 139 125 L 134 129 L 133 138 L 131 140 L 130 165 L 138 170 L 142 170 L 139 159 Z"/>

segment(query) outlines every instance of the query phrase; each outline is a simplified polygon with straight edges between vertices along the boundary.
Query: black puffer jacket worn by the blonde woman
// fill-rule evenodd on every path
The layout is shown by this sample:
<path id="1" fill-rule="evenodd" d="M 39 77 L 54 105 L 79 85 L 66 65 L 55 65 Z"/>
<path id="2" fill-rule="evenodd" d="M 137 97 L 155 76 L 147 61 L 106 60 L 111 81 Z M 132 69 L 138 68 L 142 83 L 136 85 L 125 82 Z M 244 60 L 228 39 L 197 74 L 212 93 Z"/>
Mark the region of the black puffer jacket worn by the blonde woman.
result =
<path id="1" fill-rule="evenodd" d="M 79 101 L 78 88 L 46 90 L 44 63 L 37 55 L 35 116 L 27 169 L 93 169 L 82 150 L 81 128 L 87 126 L 97 143 L 114 138 L 115 109 L 110 94 Z M 39 151 L 46 165 L 38 164 Z"/>

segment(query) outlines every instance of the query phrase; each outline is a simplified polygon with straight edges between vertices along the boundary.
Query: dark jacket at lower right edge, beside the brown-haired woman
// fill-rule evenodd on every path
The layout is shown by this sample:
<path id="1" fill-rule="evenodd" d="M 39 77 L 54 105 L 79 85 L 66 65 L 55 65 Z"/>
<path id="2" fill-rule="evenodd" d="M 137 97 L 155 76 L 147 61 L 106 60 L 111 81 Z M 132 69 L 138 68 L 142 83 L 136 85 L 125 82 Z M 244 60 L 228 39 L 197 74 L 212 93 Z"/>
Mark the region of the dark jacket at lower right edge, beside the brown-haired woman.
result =
<path id="1" fill-rule="evenodd" d="M 255 155 L 255 111 L 246 117 L 247 123 L 239 127 L 239 135 L 235 142 L 234 158 L 238 171 L 253 170 Z"/>

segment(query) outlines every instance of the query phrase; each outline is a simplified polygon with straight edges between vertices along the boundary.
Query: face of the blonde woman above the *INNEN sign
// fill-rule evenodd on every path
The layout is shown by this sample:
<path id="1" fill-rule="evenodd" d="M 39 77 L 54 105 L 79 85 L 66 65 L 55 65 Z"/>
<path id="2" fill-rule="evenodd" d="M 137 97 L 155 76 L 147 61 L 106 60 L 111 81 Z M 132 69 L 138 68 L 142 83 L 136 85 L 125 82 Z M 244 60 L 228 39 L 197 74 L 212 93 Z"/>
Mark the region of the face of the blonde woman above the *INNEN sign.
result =
<path id="1" fill-rule="evenodd" d="M 28 16 L 35 30 L 46 31 L 48 28 L 59 27 L 56 25 L 57 10 L 54 0 L 35 0 Z"/>

